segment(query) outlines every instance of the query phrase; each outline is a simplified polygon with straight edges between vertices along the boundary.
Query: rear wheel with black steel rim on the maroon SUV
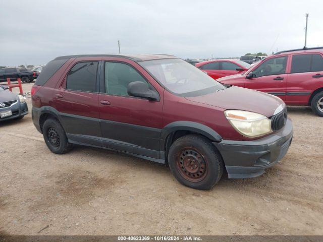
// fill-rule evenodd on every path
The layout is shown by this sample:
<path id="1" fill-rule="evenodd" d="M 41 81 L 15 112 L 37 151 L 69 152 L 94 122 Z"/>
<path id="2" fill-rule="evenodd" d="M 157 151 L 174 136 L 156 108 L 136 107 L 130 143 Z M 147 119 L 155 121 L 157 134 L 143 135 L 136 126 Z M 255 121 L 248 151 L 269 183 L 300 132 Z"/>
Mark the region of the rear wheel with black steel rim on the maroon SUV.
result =
<path id="1" fill-rule="evenodd" d="M 56 118 L 45 120 L 42 133 L 48 149 L 55 154 L 65 154 L 73 147 L 68 142 L 65 131 Z"/>

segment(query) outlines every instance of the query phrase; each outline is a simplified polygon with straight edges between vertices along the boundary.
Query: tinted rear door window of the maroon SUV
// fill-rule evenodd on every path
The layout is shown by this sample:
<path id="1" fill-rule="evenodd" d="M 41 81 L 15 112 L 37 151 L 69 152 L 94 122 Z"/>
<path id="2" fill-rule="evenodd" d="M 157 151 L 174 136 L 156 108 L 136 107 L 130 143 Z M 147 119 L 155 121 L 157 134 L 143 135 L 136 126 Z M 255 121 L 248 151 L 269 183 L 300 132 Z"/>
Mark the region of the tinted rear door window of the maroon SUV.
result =
<path id="1" fill-rule="evenodd" d="M 97 66 L 97 62 L 77 63 L 67 74 L 66 89 L 95 92 Z"/>

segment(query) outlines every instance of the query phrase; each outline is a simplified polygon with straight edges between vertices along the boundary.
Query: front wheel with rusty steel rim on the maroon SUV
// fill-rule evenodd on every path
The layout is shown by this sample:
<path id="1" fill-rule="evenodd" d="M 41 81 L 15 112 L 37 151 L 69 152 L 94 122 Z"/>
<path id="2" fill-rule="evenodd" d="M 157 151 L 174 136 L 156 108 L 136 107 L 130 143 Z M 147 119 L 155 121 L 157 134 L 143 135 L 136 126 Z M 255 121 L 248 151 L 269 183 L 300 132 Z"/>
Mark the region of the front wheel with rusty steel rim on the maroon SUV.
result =
<path id="1" fill-rule="evenodd" d="M 224 170 L 219 151 L 200 135 L 186 135 L 177 139 L 170 148 L 168 161 L 175 178 L 194 189 L 211 189 L 218 183 Z"/>

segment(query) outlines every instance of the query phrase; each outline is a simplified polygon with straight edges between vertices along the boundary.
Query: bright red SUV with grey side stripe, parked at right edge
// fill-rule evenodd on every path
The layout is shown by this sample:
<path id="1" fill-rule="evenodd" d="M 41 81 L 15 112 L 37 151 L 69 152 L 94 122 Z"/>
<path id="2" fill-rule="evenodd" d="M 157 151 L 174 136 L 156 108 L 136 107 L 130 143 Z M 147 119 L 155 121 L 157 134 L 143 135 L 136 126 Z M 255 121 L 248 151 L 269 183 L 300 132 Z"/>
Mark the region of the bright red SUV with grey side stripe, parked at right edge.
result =
<path id="1" fill-rule="evenodd" d="M 287 105 L 311 106 L 323 116 L 323 47 L 280 51 L 246 73 L 217 81 L 278 96 Z"/>

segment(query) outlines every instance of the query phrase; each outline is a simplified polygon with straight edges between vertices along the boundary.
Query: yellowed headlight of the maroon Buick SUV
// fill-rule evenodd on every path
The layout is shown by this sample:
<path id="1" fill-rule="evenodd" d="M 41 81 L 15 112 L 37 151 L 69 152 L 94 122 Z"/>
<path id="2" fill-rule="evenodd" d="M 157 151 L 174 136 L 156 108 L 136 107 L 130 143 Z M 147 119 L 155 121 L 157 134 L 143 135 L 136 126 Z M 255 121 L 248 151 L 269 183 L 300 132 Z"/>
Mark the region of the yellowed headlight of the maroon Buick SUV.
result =
<path id="1" fill-rule="evenodd" d="M 272 120 L 266 116 L 242 110 L 226 110 L 230 124 L 243 136 L 254 138 L 272 133 Z"/>

